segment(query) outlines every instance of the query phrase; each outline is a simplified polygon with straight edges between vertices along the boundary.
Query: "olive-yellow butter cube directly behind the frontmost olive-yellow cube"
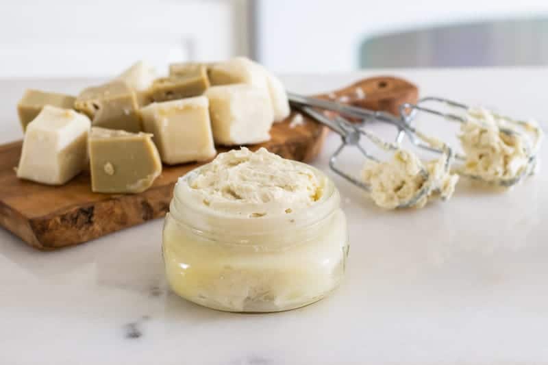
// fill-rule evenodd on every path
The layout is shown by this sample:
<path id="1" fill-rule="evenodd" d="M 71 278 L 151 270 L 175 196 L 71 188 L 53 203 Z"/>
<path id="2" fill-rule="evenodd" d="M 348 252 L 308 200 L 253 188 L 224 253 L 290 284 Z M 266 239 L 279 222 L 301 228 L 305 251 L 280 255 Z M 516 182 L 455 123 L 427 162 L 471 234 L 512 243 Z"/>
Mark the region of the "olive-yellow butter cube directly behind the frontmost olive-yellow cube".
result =
<path id="1" fill-rule="evenodd" d="M 92 119 L 94 127 L 141 130 L 135 91 L 125 81 L 114 80 L 101 86 L 86 88 L 78 95 L 76 110 Z"/>

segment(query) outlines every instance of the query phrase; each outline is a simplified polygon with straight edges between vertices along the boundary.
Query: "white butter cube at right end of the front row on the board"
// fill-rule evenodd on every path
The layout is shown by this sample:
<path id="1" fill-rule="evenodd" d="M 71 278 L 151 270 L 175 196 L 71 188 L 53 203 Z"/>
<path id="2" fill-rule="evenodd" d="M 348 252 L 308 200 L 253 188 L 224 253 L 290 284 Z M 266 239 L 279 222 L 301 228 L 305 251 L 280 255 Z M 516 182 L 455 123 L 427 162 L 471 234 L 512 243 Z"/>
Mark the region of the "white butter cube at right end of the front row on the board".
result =
<path id="1" fill-rule="evenodd" d="M 264 90 L 249 84 L 213 86 L 206 97 L 215 143 L 231 146 L 270 139 L 273 113 Z"/>

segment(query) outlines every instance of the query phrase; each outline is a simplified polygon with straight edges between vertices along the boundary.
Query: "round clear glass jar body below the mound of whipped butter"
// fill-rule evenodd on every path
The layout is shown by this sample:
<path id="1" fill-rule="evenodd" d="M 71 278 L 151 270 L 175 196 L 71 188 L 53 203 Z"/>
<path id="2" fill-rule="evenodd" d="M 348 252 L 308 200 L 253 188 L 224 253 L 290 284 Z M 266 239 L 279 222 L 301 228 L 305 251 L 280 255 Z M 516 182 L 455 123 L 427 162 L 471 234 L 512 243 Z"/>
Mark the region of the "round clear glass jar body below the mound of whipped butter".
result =
<path id="1" fill-rule="evenodd" d="M 199 169 L 177 185 L 188 184 Z M 291 310 L 332 292 L 345 272 L 347 223 L 333 182 L 312 170 L 325 181 L 322 196 L 282 215 L 216 212 L 175 187 L 162 239 L 173 291 L 228 312 Z"/>

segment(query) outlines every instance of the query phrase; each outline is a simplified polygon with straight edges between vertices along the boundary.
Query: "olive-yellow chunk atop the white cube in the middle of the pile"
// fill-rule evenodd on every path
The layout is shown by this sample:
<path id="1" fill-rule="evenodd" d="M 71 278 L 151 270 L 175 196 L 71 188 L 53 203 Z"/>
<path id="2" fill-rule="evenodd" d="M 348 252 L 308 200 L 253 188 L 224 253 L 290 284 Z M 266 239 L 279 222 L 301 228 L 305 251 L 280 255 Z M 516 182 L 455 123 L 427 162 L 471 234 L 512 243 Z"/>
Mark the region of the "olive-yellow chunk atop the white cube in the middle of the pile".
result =
<path id="1" fill-rule="evenodd" d="M 169 101 L 202 95 L 210 86 L 205 65 L 189 66 L 184 72 L 155 79 L 148 91 L 150 102 Z"/>

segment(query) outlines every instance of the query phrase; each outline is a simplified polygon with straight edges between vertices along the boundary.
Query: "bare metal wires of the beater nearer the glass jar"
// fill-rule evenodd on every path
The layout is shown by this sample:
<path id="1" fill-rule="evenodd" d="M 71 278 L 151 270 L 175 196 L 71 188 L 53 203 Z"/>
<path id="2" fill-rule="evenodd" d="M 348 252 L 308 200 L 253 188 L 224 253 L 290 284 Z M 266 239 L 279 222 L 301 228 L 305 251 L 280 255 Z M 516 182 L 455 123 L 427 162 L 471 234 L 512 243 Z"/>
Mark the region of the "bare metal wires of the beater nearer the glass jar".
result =
<path id="1" fill-rule="evenodd" d="M 453 151 L 451 150 L 451 148 L 447 144 L 429 138 L 428 136 L 425 136 L 425 134 L 422 134 L 420 131 L 417 131 L 414 127 L 412 127 L 412 125 L 407 123 L 408 120 L 404 118 L 393 116 L 393 114 L 390 114 L 388 112 L 367 110 L 364 108 L 357 108 L 351 105 L 336 103 L 334 101 L 325 101 L 312 97 L 303 97 L 301 95 L 295 95 L 291 93 L 288 94 L 288 97 L 290 103 L 293 106 L 295 106 L 299 110 L 302 110 L 306 114 L 310 115 L 312 118 L 316 119 L 316 121 L 319 121 L 319 123 L 326 125 L 341 136 L 342 142 L 340 146 L 329 158 L 329 168 L 331 168 L 332 171 L 334 171 L 337 175 L 340 175 L 347 181 L 351 182 L 351 184 L 362 188 L 366 192 L 371 192 L 371 186 L 369 186 L 369 184 L 365 184 L 364 181 L 361 181 L 355 176 L 346 173 L 338 167 L 337 160 L 340 153 L 343 152 L 346 147 L 356 147 L 367 160 L 379 162 L 379 159 L 368 153 L 366 149 L 364 149 L 362 144 L 360 144 L 362 136 L 364 136 L 364 138 L 366 138 L 370 142 L 373 142 L 373 144 L 375 144 L 380 149 L 383 149 L 384 151 L 394 152 L 399 149 L 398 144 L 386 142 L 381 138 L 375 136 L 375 134 L 364 130 L 363 125 L 368 121 L 380 121 L 382 123 L 388 123 L 390 125 L 393 125 L 399 131 L 399 136 L 401 135 L 401 138 L 407 135 L 410 137 L 410 140 L 412 140 L 414 144 L 423 149 L 429 149 L 436 152 L 440 151 L 444 153 L 445 172 L 449 171 L 449 168 L 451 166 L 451 160 L 453 160 Z M 337 116 L 330 118 L 314 108 L 321 108 L 323 110 L 335 112 Z M 347 119 L 343 118 L 343 116 L 341 115 L 350 116 L 353 118 L 360 118 L 362 120 L 362 123 L 351 123 L 347 121 Z M 421 168 L 420 173 L 425 179 L 425 184 L 423 184 L 421 189 L 419 189 L 413 197 L 408 199 L 408 201 L 400 203 L 397 206 L 398 208 L 412 207 L 417 203 L 417 201 L 419 201 L 423 197 L 432 194 L 432 192 L 436 192 L 437 188 L 435 188 L 433 184 L 429 184 L 431 176 L 428 171 L 426 171 L 425 168 Z"/>

